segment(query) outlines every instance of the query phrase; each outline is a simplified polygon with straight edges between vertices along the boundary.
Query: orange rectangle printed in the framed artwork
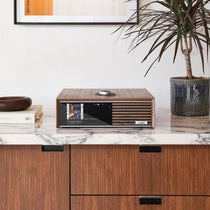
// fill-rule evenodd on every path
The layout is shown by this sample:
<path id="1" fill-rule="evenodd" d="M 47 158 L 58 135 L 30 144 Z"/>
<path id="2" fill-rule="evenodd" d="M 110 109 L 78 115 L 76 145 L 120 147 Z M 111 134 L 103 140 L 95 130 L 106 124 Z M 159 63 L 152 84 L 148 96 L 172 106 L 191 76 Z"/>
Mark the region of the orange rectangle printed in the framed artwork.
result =
<path id="1" fill-rule="evenodd" d="M 25 0 L 25 15 L 53 15 L 53 0 Z"/>

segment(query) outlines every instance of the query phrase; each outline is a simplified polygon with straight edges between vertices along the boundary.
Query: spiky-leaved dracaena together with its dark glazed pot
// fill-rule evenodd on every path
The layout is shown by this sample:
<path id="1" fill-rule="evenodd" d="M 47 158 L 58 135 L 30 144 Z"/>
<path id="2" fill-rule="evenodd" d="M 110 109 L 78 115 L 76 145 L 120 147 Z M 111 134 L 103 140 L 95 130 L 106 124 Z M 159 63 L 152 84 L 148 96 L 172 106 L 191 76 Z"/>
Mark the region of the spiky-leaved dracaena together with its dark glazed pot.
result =
<path id="1" fill-rule="evenodd" d="M 138 8 L 129 20 L 116 30 L 122 29 L 124 38 L 132 40 L 131 50 L 154 38 L 142 62 L 152 53 L 156 53 L 156 50 L 159 49 L 159 52 L 145 76 L 152 66 L 161 60 L 169 47 L 174 47 L 173 62 L 176 60 L 178 49 L 181 49 L 186 61 L 186 77 L 170 79 L 172 114 L 209 114 L 210 78 L 193 76 L 190 57 L 193 47 L 197 47 L 204 72 L 203 44 L 206 45 L 207 58 L 210 45 L 210 10 L 206 7 L 208 2 L 209 0 L 151 1 Z M 129 24 L 136 16 L 139 23 Z"/>

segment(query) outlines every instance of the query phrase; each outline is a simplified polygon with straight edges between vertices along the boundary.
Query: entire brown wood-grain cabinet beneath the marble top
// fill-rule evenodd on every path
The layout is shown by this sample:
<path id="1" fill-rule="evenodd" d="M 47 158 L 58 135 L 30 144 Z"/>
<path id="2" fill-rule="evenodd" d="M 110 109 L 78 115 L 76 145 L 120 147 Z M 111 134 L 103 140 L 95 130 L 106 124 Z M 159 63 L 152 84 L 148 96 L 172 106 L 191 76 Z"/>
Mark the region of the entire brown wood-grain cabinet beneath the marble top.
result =
<path id="1" fill-rule="evenodd" d="M 46 150 L 0 146 L 0 209 L 210 209 L 208 145 L 72 145 L 62 152 Z"/>

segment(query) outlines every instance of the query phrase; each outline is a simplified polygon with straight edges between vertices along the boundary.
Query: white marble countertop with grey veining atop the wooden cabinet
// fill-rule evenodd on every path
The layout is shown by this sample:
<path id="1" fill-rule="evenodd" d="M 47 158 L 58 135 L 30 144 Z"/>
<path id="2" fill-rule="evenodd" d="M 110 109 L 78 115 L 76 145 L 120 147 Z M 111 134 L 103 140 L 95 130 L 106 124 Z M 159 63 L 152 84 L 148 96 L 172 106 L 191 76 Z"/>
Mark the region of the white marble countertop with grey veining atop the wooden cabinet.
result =
<path id="1" fill-rule="evenodd" d="M 0 144 L 210 144 L 210 116 L 171 115 L 156 110 L 155 128 L 56 128 L 55 110 L 43 111 L 40 128 L 0 124 Z"/>

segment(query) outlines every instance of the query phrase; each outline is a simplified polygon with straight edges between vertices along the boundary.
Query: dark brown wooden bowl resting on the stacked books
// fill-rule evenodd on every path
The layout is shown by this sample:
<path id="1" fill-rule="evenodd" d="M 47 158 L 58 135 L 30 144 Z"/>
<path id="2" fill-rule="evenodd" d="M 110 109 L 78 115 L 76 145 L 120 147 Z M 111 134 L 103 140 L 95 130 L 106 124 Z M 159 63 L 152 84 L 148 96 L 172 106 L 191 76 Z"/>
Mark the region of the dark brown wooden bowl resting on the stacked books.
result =
<path id="1" fill-rule="evenodd" d="M 29 108 L 31 104 L 32 100 L 28 97 L 0 97 L 0 111 L 20 111 Z"/>

